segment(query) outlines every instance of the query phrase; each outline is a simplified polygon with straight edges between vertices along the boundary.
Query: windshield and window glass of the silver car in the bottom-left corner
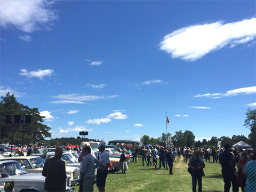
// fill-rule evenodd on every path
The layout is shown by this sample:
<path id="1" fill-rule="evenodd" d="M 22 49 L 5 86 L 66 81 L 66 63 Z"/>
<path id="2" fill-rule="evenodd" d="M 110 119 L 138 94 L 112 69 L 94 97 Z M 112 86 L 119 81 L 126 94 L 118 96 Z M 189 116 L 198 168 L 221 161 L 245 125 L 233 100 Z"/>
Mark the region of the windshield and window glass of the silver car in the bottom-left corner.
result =
<path id="1" fill-rule="evenodd" d="M 28 172 L 23 169 L 18 162 L 6 162 L 0 164 L 0 178 L 6 178 L 10 175 L 20 175 L 23 173 Z"/>

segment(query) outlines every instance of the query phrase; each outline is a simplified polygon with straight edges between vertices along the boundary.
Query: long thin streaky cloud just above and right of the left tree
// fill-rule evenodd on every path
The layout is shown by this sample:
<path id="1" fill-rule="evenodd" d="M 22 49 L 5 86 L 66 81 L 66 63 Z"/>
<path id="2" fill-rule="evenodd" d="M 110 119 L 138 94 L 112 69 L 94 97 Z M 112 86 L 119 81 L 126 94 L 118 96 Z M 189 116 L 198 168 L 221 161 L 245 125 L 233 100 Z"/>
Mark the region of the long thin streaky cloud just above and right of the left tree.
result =
<path id="1" fill-rule="evenodd" d="M 79 93 L 70 93 L 70 94 L 59 94 L 52 96 L 54 99 L 59 99 L 59 101 L 50 101 L 50 103 L 65 104 L 65 103 L 77 103 L 85 104 L 83 101 L 93 101 L 100 99 L 113 99 L 118 97 L 118 95 L 110 96 L 97 96 L 97 95 L 84 95 Z"/>

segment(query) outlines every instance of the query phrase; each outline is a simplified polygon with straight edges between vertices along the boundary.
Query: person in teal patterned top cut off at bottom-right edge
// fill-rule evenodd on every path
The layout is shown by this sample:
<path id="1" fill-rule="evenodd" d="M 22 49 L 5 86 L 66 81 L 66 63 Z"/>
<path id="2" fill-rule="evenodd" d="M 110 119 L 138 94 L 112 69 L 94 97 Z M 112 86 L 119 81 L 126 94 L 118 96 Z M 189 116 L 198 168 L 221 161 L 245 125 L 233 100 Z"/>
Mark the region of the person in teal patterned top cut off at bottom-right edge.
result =
<path id="1" fill-rule="evenodd" d="M 245 192 L 256 191 L 256 151 L 252 151 L 252 159 L 246 163 L 243 173 L 246 175 Z"/>

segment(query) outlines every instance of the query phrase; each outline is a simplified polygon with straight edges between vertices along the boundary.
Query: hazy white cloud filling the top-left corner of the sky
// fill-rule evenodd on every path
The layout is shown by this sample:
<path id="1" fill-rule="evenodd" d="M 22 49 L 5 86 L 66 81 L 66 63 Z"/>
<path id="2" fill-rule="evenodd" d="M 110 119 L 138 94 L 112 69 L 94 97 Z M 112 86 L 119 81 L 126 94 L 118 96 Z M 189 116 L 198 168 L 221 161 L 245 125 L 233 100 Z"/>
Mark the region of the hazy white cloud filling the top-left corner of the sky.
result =
<path id="1" fill-rule="evenodd" d="M 55 10 L 50 6 L 55 1 L 0 1 L 0 25 L 3 28 L 15 27 L 25 32 L 41 29 L 43 26 L 50 29 L 53 21 L 57 20 Z"/>

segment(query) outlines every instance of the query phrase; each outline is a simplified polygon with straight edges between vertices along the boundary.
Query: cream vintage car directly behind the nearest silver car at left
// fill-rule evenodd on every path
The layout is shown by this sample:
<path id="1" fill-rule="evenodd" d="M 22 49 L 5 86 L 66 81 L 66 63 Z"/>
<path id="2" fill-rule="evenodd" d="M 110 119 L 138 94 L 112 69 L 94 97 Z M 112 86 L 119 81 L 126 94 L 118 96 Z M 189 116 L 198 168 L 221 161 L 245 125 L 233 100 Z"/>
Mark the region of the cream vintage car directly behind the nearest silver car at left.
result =
<path id="1" fill-rule="evenodd" d="M 28 157 L 5 157 L 0 158 L 0 161 L 14 160 L 30 173 L 42 173 L 45 160 L 38 156 Z M 70 175 L 71 185 L 76 185 L 79 182 L 79 168 L 66 166 L 66 173 Z"/>

